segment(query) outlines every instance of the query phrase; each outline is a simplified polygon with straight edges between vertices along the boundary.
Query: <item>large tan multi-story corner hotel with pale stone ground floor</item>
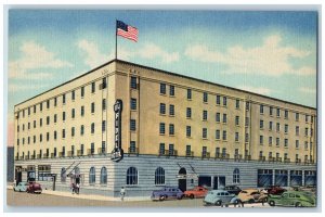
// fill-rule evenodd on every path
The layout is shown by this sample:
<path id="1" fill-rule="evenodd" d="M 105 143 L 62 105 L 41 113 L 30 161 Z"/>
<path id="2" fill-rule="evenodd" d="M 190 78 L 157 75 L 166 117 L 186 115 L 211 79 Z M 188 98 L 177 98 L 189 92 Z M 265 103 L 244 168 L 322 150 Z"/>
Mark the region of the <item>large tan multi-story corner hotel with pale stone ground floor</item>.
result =
<path id="1" fill-rule="evenodd" d="M 80 182 L 81 193 L 113 196 L 316 183 L 315 108 L 120 60 L 14 112 L 17 181 L 51 188 L 55 176 L 56 190 Z"/>

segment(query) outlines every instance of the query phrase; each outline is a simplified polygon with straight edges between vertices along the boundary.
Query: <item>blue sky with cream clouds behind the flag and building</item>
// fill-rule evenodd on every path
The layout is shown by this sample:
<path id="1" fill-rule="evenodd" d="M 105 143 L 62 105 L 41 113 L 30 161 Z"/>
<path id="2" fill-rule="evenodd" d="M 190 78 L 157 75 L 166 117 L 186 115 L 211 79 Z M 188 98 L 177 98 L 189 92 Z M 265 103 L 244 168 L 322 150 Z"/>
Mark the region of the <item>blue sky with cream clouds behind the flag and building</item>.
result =
<path id="1" fill-rule="evenodd" d="M 10 10 L 8 144 L 14 105 L 118 59 L 316 106 L 317 13 L 303 11 Z"/>

